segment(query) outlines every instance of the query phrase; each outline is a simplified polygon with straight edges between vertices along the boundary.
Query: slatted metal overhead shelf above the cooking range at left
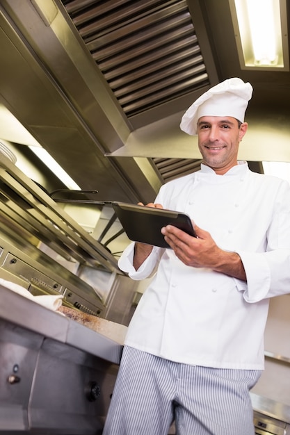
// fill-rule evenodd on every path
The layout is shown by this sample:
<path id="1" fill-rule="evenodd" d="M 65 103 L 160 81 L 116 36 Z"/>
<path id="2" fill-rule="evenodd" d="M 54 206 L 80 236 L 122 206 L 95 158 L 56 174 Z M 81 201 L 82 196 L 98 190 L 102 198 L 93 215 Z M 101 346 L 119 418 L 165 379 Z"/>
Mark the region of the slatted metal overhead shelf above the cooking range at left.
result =
<path id="1" fill-rule="evenodd" d="M 96 240 L 92 239 L 72 218 L 59 208 L 33 181 L 19 171 L 8 158 L 1 156 L 0 180 L 3 183 L 3 205 L 8 207 L 7 218 L 15 216 L 15 224 L 37 234 L 45 243 L 51 241 L 76 261 L 103 265 L 118 270 L 116 259 Z M 6 190 L 8 188 L 8 190 Z M 15 197 L 10 192 L 15 194 Z M 19 202 L 19 205 L 17 204 Z M 10 213 L 12 212 L 12 213 Z M 14 212 L 14 213 L 13 213 Z M 18 222 L 20 220 L 20 222 Z"/>

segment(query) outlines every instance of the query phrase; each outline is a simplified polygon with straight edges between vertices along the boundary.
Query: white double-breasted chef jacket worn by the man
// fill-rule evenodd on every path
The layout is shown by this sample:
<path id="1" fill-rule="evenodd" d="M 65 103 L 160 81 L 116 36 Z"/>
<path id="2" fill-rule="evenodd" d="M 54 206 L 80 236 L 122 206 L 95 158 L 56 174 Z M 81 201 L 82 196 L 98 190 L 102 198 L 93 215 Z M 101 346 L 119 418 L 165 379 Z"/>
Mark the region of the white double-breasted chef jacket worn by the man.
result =
<path id="1" fill-rule="evenodd" d="M 289 183 L 251 172 L 245 162 L 224 175 L 202 165 L 162 186 L 155 202 L 187 213 L 220 248 L 237 252 L 247 282 L 186 266 L 159 247 L 136 271 L 132 243 L 120 269 L 137 280 L 157 272 L 125 344 L 180 363 L 262 370 L 268 298 L 290 293 Z"/>

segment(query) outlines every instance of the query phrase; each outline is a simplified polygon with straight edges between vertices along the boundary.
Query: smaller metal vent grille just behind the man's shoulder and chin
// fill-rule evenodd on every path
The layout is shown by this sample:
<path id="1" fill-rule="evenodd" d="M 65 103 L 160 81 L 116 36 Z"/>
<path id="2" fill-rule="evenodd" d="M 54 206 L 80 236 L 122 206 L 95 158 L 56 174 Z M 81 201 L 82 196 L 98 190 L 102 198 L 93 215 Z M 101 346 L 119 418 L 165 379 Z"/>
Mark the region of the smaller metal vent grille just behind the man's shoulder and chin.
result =
<path id="1" fill-rule="evenodd" d="M 200 170 L 202 160 L 193 158 L 152 158 L 164 183 Z"/>

